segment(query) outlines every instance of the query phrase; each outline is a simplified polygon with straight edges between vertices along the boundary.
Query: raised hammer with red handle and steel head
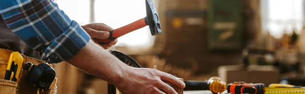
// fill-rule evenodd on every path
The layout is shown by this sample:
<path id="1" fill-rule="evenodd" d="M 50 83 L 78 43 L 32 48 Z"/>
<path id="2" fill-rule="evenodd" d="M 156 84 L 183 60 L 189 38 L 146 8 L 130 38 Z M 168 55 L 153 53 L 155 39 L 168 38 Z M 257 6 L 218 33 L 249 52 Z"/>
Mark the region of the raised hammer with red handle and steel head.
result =
<path id="1" fill-rule="evenodd" d="M 145 0 L 145 3 L 146 3 L 146 17 L 139 19 L 133 23 L 130 23 L 126 26 L 109 31 L 110 36 L 108 39 L 96 40 L 96 42 L 99 42 L 101 44 L 109 43 L 110 41 L 120 36 L 123 36 L 137 29 L 143 28 L 147 25 L 149 26 L 151 35 L 155 36 L 161 34 L 162 30 L 160 25 L 160 19 L 153 1 Z"/>

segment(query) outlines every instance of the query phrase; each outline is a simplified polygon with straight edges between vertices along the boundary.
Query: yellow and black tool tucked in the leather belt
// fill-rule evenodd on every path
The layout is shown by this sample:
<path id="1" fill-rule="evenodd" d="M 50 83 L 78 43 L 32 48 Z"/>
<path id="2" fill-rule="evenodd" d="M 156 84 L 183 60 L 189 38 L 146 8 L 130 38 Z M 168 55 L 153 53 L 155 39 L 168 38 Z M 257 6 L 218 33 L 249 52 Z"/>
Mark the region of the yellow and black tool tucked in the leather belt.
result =
<path id="1" fill-rule="evenodd" d="M 22 64 L 23 57 L 18 52 L 12 53 L 8 62 L 8 67 L 4 79 L 17 81 L 19 79 Z"/>

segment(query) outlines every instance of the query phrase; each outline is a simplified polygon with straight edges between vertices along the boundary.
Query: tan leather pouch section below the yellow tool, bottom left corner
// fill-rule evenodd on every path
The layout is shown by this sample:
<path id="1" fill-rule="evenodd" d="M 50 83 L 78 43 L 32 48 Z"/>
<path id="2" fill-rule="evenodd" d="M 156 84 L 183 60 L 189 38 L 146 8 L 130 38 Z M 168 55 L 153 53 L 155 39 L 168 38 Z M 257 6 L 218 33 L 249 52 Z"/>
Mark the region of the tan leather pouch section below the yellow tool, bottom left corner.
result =
<path id="1" fill-rule="evenodd" d="M 0 91 L 2 94 L 16 93 L 17 82 L 0 79 Z"/>

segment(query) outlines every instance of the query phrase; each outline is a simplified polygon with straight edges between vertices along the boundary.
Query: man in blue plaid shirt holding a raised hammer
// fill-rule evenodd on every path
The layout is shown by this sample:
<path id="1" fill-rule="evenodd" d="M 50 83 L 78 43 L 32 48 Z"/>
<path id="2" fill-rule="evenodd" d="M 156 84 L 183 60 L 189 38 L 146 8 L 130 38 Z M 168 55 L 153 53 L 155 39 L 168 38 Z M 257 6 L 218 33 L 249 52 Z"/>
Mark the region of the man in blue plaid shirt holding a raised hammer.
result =
<path id="1" fill-rule="evenodd" d="M 185 87 L 168 73 L 122 63 L 105 50 L 117 40 L 101 44 L 103 49 L 91 39 L 108 38 L 112 28 L 99 23 L 81 27 L 51 0 L 0 0 L 0 14 L 5 23 L 0 24 L 0 48 L 48 63 L 66 61 L 123 93 L 177 93 L 165 82 Z"/>

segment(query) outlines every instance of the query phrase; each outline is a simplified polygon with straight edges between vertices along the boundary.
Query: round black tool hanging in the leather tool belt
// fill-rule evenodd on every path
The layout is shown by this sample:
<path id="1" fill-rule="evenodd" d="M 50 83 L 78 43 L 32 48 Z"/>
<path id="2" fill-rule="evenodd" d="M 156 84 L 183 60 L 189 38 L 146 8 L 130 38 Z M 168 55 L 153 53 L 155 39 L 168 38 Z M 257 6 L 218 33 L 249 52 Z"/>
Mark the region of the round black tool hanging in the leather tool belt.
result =
<path id="1" fill-rule="evenodd" d="M 23 69 L 29 71 L 27 82 L 43 90 L 49 89 L 56 75 L 55 70 L 47 63 L 41 63 L 39 65 L 27 63 Z"/>

